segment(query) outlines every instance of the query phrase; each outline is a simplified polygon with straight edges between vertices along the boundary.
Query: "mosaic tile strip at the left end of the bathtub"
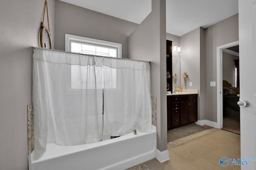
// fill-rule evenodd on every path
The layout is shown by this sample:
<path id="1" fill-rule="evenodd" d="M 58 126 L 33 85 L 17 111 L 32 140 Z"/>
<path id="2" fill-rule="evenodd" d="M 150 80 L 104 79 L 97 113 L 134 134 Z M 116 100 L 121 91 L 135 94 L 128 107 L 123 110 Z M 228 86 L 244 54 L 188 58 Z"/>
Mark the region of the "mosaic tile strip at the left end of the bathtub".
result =
<path id="1" fill-rule="evenodd" d="M 34 109 L 30 104 L 28 108 L 28 154 L 34 150 Z"/>

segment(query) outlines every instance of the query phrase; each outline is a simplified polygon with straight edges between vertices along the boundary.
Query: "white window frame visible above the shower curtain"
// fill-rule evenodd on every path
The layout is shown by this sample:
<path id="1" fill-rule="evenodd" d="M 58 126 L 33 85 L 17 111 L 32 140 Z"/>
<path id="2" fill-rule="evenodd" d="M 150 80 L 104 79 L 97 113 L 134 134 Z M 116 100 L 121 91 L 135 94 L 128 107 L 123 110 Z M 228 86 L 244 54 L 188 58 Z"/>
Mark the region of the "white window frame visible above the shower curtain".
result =
<path id="1" fill-rule="evenodd" d="M 65 34 L 65 51 L 71 52 L 71 42 L 78 42 L 78 43 L 87 43 L 92 45 L 97 45 L 101 47 L 108 47 L 117 49 L 117 56 L 116 58 L 122 58 L 122 44 L 114 43 L 110 41 L 104 41 L 100 39 L 93 39 L 88 37 L 81 37 L 78 35 L 71 35 Z"/>

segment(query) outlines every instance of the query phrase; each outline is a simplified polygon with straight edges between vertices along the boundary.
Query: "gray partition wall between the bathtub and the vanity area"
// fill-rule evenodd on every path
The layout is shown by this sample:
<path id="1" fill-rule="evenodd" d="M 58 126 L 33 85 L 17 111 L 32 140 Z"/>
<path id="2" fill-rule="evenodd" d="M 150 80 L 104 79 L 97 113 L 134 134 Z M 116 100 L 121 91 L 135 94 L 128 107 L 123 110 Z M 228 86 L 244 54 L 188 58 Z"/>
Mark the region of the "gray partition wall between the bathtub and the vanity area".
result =
<path id="1" fill-rule="evenodd" d="M 150 61 L 151 96 L 156 97 L 157 149 L 167 149 L 166 4 L 152 0 L 152 12 L 128 38 L 129 59 Z"/>

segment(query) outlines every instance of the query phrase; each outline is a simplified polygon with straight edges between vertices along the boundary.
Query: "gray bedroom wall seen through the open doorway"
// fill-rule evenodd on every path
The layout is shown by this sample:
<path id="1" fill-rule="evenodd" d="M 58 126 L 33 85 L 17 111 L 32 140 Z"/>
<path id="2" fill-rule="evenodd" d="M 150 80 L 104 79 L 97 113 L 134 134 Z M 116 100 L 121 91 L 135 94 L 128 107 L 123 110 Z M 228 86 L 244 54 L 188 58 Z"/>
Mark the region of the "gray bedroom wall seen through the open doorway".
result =
<path id="1" fill-rule="evenodd" d="M 227 80 L 232 86 L 235 86 L 235 62 L 238 56 L 229 53 L 222 53 L 222 79 Z"/>

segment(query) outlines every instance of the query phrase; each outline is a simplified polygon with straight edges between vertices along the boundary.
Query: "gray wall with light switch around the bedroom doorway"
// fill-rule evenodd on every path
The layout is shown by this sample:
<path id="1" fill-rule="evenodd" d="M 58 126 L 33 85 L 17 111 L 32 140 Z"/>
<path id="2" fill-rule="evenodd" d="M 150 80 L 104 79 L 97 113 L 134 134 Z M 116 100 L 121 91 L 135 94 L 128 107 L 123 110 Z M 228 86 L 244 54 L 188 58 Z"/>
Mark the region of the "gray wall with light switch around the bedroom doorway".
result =
<path id="1" fill-rule="evenodd" d="M 216 49 L 234 41 L 238 41 L 238 14 L 205 29 L 207 111 L 204 119 L 217 122 L 217 88 L 210 87 L 210 81 L 217 79 Z"/>

